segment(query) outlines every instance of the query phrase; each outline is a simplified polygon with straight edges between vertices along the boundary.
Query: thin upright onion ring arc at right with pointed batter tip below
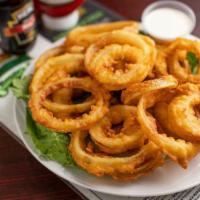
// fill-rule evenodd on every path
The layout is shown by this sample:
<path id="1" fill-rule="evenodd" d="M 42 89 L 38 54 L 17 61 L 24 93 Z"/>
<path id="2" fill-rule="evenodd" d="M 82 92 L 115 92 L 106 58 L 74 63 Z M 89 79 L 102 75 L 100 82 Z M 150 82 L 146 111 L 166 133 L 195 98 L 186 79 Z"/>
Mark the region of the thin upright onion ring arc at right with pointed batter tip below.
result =
<path id="1" fill-rule="evenodd" d="M 146 111 L 168 95 L 169 90 L 157 90 L 143 95 L 138 104 L 138 121 L 150 141 L 158 145 L 172 160 L 183 168 L 187 168 L 188 161 L 199 152 L 200 144 L 186 142 L 182 139 L 176 140 L 165 133 L 159 133 L 155 119 Z"/>

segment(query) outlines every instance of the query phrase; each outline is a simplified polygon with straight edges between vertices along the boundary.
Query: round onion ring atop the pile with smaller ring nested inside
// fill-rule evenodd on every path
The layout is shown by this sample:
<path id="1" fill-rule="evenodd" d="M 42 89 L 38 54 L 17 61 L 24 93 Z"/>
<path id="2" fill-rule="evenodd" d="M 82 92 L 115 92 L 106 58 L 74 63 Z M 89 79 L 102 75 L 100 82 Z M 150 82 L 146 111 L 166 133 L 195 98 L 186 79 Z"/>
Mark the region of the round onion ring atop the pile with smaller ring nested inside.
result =
<path id="1" fill-rule="evenodd" d="M 106 89 L 119 90 L 144 80 L 155 55 L 152 40 L 120 30 L 104 35 L 87 49 L 85 66 Z"/>

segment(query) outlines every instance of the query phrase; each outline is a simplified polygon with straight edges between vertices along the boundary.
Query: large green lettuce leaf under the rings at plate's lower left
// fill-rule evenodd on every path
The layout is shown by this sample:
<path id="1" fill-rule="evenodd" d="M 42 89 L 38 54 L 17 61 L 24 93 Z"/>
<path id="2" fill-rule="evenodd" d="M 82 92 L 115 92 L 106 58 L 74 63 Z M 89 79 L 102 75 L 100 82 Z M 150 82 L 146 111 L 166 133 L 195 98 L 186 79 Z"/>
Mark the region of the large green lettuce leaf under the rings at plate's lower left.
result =
<path id="1" fill-rule="evenodd" d="M 30 135 L 35 147 L 45 159 L 55 160 L 63 166 L 75 166 L 68 150 L 69 134 L 56 133 L 36 123 L 28 109 L 25 133 Z"/>

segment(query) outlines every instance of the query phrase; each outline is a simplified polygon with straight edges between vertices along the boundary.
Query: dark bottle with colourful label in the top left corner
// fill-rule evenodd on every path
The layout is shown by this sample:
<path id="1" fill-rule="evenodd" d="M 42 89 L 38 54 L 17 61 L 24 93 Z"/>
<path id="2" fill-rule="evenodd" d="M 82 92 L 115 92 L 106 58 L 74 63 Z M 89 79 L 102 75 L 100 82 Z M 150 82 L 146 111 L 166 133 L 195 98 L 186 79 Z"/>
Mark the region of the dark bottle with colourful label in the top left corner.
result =
<path id="1" fill-rule="evenodd" d="M 34 6 L 30 0 L 0 0 L 0 48 L 25 53 L 36 38 Z"/>

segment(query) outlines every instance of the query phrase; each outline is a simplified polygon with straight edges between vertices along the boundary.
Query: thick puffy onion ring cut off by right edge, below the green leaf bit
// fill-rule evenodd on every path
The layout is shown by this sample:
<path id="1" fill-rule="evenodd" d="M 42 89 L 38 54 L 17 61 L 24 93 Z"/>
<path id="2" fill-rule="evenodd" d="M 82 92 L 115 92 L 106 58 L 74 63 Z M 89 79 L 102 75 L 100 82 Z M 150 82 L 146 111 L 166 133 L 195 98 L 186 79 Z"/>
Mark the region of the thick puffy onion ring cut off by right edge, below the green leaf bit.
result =
<path id="1" fill-rule="evenodd" d="M 173 131 L 185 140 L 200 141 L 200 119 L 194 111 L 199 104 L 199 92 L 177 96 L 169 104 L 169 122 Z"/>

